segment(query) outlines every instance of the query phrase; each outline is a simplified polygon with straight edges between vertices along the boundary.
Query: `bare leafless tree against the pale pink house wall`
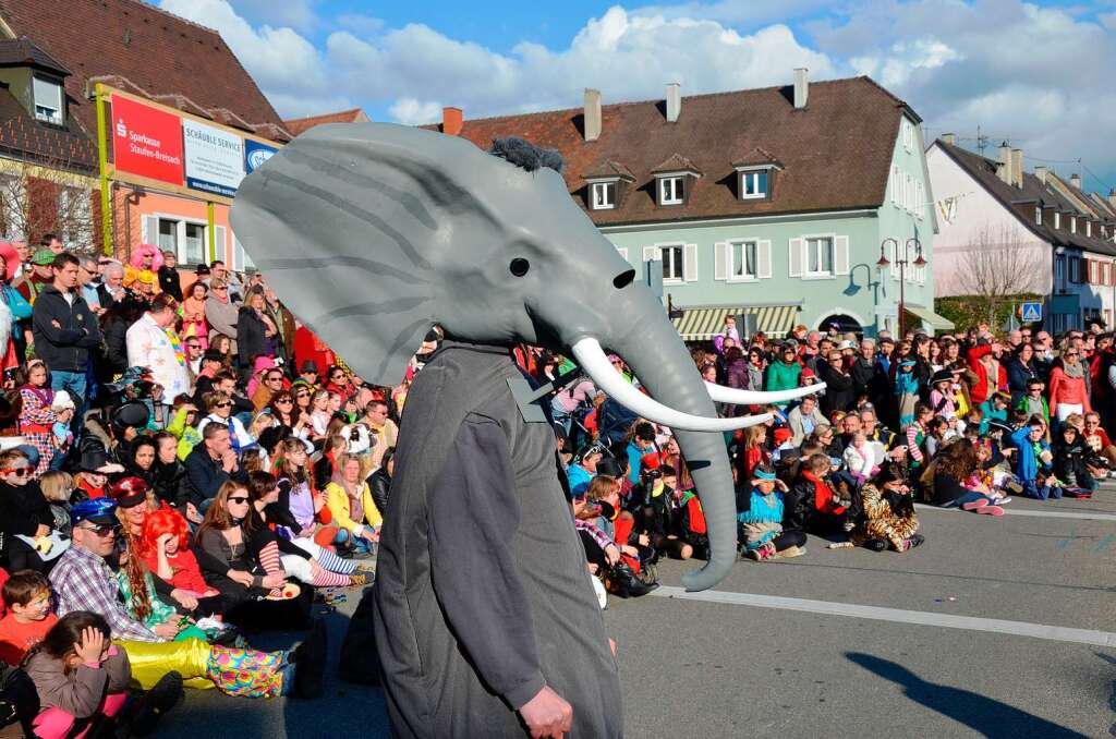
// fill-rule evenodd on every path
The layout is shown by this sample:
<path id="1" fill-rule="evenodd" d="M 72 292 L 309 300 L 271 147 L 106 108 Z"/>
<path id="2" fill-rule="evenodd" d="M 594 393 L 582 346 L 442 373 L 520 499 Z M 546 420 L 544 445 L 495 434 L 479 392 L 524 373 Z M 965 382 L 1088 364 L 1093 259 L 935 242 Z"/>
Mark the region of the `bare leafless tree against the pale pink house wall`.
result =
<path id="1" fill-rule="evenodd" d="M 1019 229 L 984 227 L 960 252 L 952 292 L 971 297 L 991 324 L 1008 299 L 1046 292 L 1049 275 L 1048 249 Z"/>

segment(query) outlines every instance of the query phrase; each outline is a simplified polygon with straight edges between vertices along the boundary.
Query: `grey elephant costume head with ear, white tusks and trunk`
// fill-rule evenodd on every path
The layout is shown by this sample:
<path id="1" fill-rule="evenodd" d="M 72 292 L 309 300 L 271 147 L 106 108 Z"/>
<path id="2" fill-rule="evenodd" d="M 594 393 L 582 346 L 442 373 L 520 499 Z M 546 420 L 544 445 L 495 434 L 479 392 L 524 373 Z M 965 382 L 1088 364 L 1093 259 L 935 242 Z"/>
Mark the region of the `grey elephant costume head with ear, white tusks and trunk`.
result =
<path id="1" fill-rule="evenodd" d="M 723 436 L 711 432 L 768 419 L 718 419 L 713 401 L 770 403 L 818 386 L 704 383 L 658 298 L 570 199 L 560 161 L 517 142 L 493 156 L 405 126 L 318 126 L 243 181 L 233 229 L 283 303 L 369 381 L 398 383 L 437 323 L 453 338 L 571 355 L 608 395 L 671 426 L 710 539 L 709 563 L 684 584 L 712 587 L 735 559 L 737 511 Z"/>

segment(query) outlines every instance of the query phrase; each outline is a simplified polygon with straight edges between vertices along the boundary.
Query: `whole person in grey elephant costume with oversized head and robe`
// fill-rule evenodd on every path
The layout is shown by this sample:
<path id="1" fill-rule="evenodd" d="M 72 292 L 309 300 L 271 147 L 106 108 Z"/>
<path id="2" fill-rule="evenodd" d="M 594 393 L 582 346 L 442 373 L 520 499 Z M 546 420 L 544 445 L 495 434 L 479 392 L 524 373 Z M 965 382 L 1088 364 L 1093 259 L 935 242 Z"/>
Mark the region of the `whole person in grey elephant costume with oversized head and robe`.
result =
<path id="1" fill-rule="evenodd" d="M 325 125 L 247 177 L 233 205 L 269 284 L 362 377 L 397 383 L 432 324 L 445 330 L 407 396 L 381 535 L 376 635 L 398 737 L 623 735 L 554 429 L 525 420 L 512 346 L 575 357 L 608 395 L 674 430 L 710 540 L 708 564 L 683 577 L 689 589 L 715 585 L 737 555 L 721 432 L 768 418 L 718 419 L 714 401 L 818 390 L 704 383 L 560 167 L 557 153 L 520 140 L 485 153 L 431 131 Z"/>

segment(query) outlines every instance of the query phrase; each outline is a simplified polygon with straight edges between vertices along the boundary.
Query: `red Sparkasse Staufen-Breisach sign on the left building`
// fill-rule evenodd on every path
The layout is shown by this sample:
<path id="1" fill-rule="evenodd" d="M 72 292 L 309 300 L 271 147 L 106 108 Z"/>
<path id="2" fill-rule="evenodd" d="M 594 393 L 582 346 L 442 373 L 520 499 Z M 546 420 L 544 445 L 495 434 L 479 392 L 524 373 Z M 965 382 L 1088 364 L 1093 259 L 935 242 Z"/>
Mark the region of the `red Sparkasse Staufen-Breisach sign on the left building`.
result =
<path id="1" fill-rule="evenodd" d="M 182 184 L 179 116 L 142 103 L 113 99 L 113 165 L 117 172 Z"/>

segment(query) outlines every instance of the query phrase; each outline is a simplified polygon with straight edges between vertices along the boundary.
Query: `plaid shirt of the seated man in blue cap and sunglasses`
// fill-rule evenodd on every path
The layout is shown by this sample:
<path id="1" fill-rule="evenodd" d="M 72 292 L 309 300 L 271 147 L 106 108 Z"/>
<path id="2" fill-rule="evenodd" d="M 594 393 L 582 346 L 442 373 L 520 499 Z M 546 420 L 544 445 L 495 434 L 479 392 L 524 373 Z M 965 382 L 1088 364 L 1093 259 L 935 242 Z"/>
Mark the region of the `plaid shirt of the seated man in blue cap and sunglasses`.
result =
<path id="1" fill-rule="evenodd" d="M 77 545 L 58 558 L 50 570 L 50 585 L 58 597 L 58 615 L 71 611 L 100 614 L 113 631 L 113 639 L 134 642 L 165 641 L 128 615 L 119 598 L 119 588 L 105 559 Z"/>

